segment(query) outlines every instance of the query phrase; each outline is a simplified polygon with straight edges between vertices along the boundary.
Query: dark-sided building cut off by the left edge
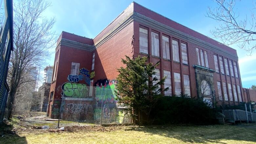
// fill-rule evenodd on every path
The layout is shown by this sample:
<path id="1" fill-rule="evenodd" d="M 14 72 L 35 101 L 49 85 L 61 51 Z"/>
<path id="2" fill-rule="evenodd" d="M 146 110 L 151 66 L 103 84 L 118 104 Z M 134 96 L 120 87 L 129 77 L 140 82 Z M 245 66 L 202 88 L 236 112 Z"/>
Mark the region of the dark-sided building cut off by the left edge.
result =
<path id="1" fill-rule="evenodd" d="M 12 0 L 0 0 L 0 123 L 9 93 L 6 82 L 8 64 L 13 50 L 13 14 Z"/>

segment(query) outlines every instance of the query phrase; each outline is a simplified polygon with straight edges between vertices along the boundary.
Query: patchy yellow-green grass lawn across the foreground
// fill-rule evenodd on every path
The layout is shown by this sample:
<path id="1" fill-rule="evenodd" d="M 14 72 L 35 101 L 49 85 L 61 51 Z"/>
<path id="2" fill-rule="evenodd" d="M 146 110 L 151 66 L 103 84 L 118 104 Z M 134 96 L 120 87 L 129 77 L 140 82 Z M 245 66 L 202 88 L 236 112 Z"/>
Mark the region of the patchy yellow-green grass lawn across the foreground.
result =
<path id="1" fill-rule="evenodd" d="M 101 130 L 101 128 L 99 127 Z M 107 127 L 104 131 L 49 132 L 33 130 L 5 134 L 0 143 L 226 143 L 256 142 L 256 124 L 208 126 Z"/>

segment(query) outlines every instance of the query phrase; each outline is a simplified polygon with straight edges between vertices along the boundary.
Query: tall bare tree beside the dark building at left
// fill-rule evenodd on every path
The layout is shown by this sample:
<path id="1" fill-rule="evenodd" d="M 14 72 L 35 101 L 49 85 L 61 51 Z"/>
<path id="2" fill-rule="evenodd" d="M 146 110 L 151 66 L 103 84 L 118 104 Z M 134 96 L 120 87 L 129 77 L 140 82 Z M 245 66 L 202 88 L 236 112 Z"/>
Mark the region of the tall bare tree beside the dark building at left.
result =
<path id="1" fill-rule="evenodd" d="M 13 41 L 14 50 L 9 63 L 10 84 L 7 103 L 8 119 L 11 118 L 15 95 L 20 85 L 34 81 L 27 75 L 34 67 L 45 65 L 50 56 L 56 35 L 51 31 L 55 18 L 46 18 L 42 13 L 50 6 L 46 0 L 18 0 L 14 4 Z"/>

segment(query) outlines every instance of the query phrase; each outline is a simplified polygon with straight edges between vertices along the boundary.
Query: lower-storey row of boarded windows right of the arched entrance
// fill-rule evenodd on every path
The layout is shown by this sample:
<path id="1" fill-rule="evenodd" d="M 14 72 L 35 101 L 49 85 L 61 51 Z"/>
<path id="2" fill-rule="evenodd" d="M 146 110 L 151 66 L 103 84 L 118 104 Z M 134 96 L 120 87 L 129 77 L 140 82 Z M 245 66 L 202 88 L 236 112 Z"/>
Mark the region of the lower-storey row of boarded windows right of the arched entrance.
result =
<path id="1" fill-rule="evenodd" d="M 228 101 L 228 95 L 229 95 L 229 100 L 233 101 L 233 94 L 234 94 L 235 101 L 238 101 L 238 98 L 239 98 L 240 102 L 243 101 L 242 95 L 241 95 L 241 89 L 240 89 L 239 85 L 236 86 L 235 84 L 233 84 L 231 86 L 230 83 L 227 83 L 227 85 L 226 85 L 225 82 L 222 82 L 223 93 L 222 93 L 220 81 L 217 81 L 217 86 L 218 86 L 219 100 L 223 100 L 223 94 L 224 94 L 225 101 Z M 233 91 L 233 93 L 232 93 L 232 91 Z"/>

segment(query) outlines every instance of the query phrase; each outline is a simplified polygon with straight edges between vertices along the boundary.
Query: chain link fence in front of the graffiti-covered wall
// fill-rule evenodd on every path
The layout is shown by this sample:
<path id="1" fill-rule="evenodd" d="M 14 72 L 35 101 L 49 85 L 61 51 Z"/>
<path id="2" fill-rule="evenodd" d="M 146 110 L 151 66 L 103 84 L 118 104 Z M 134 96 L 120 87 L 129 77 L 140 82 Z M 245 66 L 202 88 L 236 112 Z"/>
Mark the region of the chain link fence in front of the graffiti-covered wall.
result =
<path id="1" fill-rule="evenodd" d="M 62 85 L 61 99 L 50 97 L 47 112 L 40 112 L 40 107 L 15 109 L 13 121 L 43 128 L 132 122 L 129 114 L 124 112 L 126 107 L 116 101 L 111 86 L 89 87 L 68 82 Z"/>

